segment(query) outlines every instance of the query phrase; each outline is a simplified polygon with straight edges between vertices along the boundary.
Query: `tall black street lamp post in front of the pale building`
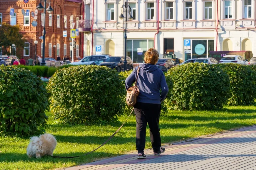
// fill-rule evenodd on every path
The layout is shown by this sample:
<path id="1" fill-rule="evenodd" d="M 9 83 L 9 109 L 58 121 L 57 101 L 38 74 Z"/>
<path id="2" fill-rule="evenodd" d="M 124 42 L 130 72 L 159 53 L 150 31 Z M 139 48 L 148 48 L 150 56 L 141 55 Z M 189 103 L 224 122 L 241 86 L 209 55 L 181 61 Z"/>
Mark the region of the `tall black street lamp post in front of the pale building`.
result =
<path id="1" fill-rule="evenodd" d="M 125 18 L 125 34 L 124 34 L 124 71 L 127 70 L 127 60 L 126 60 L 126 44 L 127 44 L 127 35 L 126 35 L 126 29 L 127 29 L 127 11 L 129 12 L 130 17 L 128 20 L 133 20 L 132 17 L 132 10 L 131 7 L 128 5 L 128 0 L 126 0 L 125 5 L 122 7 L 122 13 L 120 14 L 119 18 L 122 20 Z M 123 12 L 125 12 L 125 17 L 123 15 Z"/>

